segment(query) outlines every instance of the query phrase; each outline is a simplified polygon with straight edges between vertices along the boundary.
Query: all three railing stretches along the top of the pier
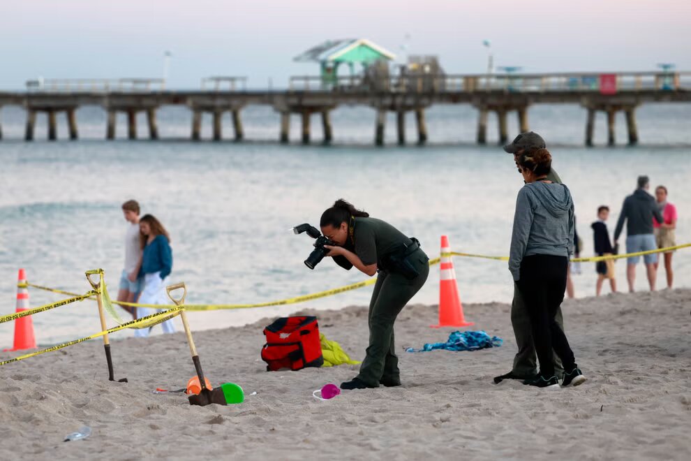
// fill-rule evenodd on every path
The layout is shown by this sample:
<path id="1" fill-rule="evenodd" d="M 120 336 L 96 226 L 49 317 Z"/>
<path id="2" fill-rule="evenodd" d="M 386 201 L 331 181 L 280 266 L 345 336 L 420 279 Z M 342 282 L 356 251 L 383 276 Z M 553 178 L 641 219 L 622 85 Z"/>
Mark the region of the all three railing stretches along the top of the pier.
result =
<path id="1" fill-rule="evenodd" d="M 202 90 L 246 92 L 246 77 L 202 79 Z M 27 81 L 27 91 L 57 93 L 161 92 L 162 78 L 119 79 L 36 79 Z M 690 72 L 553 73 L 553 74 L 470 74 L 395 75 L 373 78 L 350 75 L 321 78 L 316 75 L 291 77 L 289 92 L 394 92 L 394 93 L 475 93 L 496 92 L 615 92 L 691 91 Z"/>

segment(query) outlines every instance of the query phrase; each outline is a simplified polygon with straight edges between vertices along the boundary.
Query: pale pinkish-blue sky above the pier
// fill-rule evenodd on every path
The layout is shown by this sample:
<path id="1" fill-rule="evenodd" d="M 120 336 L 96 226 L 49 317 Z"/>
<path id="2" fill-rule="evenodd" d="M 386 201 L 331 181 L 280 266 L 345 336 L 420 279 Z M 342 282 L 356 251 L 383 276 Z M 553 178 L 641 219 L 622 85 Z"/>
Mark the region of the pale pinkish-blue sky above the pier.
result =
<path id="1" fill-rule="evenodd" d="M 168 87 L 209 75 L 285 87 L 316 75 L 292 61 L 328 38 L 369 38 L 399 54 L 436 54 L 447 73 L 691 71 L 688 0 L 0 0 L 0 89 L 43 78 L 156 77 Z M 409 36 L 406 39 L 406 35 Z"/>

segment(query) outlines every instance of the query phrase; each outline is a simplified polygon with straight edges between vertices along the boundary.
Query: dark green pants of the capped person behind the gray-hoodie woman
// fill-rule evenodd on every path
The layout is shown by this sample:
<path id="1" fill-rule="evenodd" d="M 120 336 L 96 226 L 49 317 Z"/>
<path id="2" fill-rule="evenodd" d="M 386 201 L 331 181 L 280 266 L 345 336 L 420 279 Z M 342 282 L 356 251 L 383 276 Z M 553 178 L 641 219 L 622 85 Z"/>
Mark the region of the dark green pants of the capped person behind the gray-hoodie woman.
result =
<path id="1" fill-rule="evenodd" d="M 554 318 L 559 328 L 564 331 L 564 317 L 561 314 L 561 307 L 557 309 Z M 519 348 L 514 357 L 514 374 L 519 376 L 532 376 L 537 374 L 537 355 L 535 344 L 533 343 L 533 328 L 530 326 L 530 316 L 526 309 L 526 302 L 523 295 L 514 283 L 514 300 L 511 303 L 511 325 L 516 335 L 516 344 Z M 554 351 L 552 351 L 554 353 Z M 564 367 L 556 353 L 554 353 L 554 372 L 561 379 L 564 374 Z"/>

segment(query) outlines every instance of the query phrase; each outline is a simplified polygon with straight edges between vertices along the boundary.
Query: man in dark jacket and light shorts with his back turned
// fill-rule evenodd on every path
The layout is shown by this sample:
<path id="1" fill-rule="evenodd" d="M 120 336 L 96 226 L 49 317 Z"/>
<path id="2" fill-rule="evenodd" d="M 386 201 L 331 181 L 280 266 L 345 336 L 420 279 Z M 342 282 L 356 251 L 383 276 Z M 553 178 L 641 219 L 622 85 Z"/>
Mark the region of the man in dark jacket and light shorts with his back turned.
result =
<path id="1" fill-rule="evenodd" d="M 648 180 L 648 177 L 639 176 L 638 189 L 624 199 L 624 204 L 621 207 L 621 214 L 619 214 L 619 220 L 616 222 L 616 229 L 614 230 L 615 247 L 616 241 L 619 240 L 619 235 L 621 235 L 621 231 L 624 228 L 624 221 L 627 221 L 627 253 L 657 249 L 657 242 L 655 242 L 655 235 L 653 234 L 653 218 L 660 224 L 664 222 L 664 219 L 660 213 L 660 208 L 657 207 L 657 203 L 655 203 L 655 198 L 647 192 L 648 189 L 650 189 L 650 180 Z M 634 291 L 636 265 L 640 258 L 641 256 L 632 256 L 626 260 L 626 279 L 629 282 L 630 293 Z M 655 279 L 657 278 L 655 263 L 657 262 L 657 254 L 644 255 L 643 262 L 646 264 L 646 271 L 648 272 L 648 284 L 651 286 L 651 291 L 655 291 Z"/>

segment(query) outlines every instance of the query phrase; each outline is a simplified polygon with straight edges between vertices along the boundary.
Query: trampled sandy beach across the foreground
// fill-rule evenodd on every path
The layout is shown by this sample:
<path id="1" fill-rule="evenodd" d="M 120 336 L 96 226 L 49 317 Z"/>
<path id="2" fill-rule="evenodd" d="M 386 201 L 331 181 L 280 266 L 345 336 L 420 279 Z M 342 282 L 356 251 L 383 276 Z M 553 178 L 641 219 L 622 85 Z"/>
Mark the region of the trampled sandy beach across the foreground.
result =
<path id="1" fill-rule="evenodd" d="M 410 306 L 396 323 L 403 386 L 327 402 L 312 391 L 352 378 L 357 366 L 266 372 L 261 330 L 269 319 L 197 331 L 211 383 L 245 390 L 244 404 L 228 407 L 191 407 L 184 395 L 151 392 L 184 387 L 193 376 L 183 333 L 116 334 L 116 379 L 129 383 L 107 381 L 100 341 L 2 367 L 0 458 L 688 459 L 690 307 L 688 289 L 567 300 L 567 335 L 588 382 L 537 390 L 492 383 L 515 352 L 509 305 L 465 305 L 473 329 L 504 339 L 499 348 L 406 353 L 452 331 L 429 328 L 436 306 Z M 366 308 L 304 312 L 316 313 L 329 339 L 362 358 Z M 85 424 L 91 437 L 63 442 Z"/>

